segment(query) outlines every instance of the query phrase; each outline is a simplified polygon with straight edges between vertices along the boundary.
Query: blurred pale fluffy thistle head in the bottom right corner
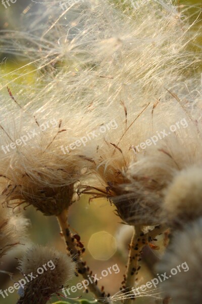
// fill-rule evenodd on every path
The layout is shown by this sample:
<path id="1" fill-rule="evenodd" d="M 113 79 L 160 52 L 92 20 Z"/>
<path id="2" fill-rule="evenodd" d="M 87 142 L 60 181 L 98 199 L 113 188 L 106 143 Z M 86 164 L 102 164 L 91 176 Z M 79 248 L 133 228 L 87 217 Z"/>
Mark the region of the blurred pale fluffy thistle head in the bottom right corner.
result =
<path id="1" fill-rule="evenodd" d="M 158 272 L 170 274 L 178 268 L 161 287 L 165 295 L 171 296 L 173 304 L 198 304 L 202 296 L 202 218 L 175 233 L 171 244 L 158 265 Z M 174 271 L 173 273 L 176 273 Z"/>

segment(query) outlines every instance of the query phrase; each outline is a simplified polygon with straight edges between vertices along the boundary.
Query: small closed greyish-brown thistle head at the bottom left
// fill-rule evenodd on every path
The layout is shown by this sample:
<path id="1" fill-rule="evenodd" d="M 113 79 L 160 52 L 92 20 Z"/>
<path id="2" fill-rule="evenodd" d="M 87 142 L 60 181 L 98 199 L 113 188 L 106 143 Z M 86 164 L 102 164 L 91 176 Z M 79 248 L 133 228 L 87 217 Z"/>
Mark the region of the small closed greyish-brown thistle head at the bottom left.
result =
<path id="1" fill-rule="evenodd" d="M 20 260 L 20 271 L 23 275 L 32 273 L 35 278 L 26 282 L 18 302 L 43 304 L 73 277 L 75 263 L 54 248 L 33 246 Z"/>

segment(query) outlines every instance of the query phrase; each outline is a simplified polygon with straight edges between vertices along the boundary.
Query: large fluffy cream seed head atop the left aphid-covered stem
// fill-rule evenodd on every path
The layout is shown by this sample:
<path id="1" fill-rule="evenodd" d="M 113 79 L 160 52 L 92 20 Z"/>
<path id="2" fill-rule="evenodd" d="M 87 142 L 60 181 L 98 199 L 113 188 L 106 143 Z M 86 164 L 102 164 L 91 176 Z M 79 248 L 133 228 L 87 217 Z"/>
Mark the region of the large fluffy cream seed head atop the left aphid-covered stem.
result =
<path id="1" fill-rule="evenodd" d="M 45 215 L 59 215 L 71 205 L 74 183 L 92 163 L 82 142 L 80 147 L 74 142 L 99 120 L 85 106 L 78 113 L 77 104 L 55 103 L 51 94 L 45 94 L 48 102 L 35 96 L 23 108 L 14 102 L 5 107 L 15 124 L 7 117 L 1 122 L 0 182 L 10 205 L 26 203 Z"/>

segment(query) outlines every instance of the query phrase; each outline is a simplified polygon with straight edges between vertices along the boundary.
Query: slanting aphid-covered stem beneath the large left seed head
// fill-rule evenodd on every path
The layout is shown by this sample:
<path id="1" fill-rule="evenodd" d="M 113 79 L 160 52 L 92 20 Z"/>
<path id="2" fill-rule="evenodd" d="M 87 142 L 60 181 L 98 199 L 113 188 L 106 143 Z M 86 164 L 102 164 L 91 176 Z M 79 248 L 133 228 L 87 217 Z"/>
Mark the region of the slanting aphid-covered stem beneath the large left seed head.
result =
<path id="1" fill-rule="evenodd" d="M 86 267 L 86 263 L 82 261 L 80 256 L 81 250 L 79 250 L 78 244 L 75 242 L 73 235 L 69 230 L 68 210 L 64 210 L 57 218 L 61 227 L 61 236 L 67 245 L 68 254 L 76 262 L 78 273 L 81 274 L 85 280 L 89 281 L 89 277 L 91 277 L 92 274 L 90 273 L 89 268 Z M 97 281 L 94 282 L 93 279 L 92 281 L 93 283 L 88 285 L 89 290 L 95 295 L 98 301 L 103 302 L 103 300 L 99 300 L 99 298 L 105 297 L 105 293 L 97 287 Z"/>

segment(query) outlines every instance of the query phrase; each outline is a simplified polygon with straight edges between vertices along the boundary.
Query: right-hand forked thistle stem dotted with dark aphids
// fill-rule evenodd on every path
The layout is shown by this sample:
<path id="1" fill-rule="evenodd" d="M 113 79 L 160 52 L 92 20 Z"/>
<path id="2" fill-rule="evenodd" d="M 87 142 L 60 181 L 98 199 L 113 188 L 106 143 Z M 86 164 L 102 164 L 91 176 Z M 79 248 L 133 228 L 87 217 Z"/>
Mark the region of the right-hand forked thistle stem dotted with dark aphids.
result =
<path id="1" fill-rule="evenodd" d="M 143 247 L 148 244 L 149 240 L 152 240 L 167 229 L 168 227 L 166 225 L 159 225 L 156 226 L 154 230 L 143 234 L 139 226 L 134 227 L 134 233 L 130 243 L 129 257 L 124 281 L 124 293 L 133 290 L 136 276 L 138 274 L 138 271 L 140 270 L 140 265 L 138 265 L 138 261 L 141 260 L 140 256 Z M 128 293 L 128 296 L 126 295 L 124 299 L 124 304 L 131 304 L 134 299 L 135 293 L 133 297 L 131 297 L 131 293 Z"/>

